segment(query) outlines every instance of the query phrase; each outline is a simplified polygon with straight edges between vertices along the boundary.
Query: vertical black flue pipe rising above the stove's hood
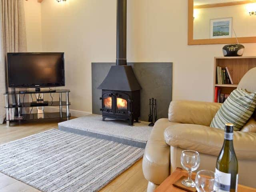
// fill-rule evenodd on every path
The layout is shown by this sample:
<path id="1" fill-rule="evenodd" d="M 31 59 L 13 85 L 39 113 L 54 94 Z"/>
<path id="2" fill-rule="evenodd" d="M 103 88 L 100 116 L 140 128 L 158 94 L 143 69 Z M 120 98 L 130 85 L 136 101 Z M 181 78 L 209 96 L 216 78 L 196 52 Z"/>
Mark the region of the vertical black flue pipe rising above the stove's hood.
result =
<path id="1" fill-rule="evenodd" d="M 127 29 L 127 0 L 117 0 L 116 65 L 127 65 L 126 29 Z"/>

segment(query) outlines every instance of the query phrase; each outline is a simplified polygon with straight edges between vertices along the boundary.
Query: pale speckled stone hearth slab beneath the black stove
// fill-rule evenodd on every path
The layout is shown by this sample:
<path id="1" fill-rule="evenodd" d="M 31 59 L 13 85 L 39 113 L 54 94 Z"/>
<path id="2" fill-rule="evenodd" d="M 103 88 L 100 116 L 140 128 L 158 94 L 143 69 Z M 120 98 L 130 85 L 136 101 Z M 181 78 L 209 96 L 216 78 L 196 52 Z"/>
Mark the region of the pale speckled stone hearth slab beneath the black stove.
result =
<path id="1" fill-rule="evenodd" d="M 110 119 L 102 121 L 102 116 L 96 114 L 60 122 L 58 127 L 63 131 L 112 140 L 140 148 L 145 148 L 152 130 L 152 127 L 148 126 L 148 122 L 134 122 L 134 126 L 129 126 L 124 121 Z"/>

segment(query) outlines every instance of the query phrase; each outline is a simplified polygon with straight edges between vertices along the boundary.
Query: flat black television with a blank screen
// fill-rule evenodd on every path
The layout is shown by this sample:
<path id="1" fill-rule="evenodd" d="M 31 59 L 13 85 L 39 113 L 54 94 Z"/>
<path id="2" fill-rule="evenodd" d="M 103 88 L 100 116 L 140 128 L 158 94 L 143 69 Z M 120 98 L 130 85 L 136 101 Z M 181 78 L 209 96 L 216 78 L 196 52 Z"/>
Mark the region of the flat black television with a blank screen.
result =
<path id="1" fill-rule="evenodd" d="M 64 53 L 7 53 L 9 87 L 65 85 Z"/>

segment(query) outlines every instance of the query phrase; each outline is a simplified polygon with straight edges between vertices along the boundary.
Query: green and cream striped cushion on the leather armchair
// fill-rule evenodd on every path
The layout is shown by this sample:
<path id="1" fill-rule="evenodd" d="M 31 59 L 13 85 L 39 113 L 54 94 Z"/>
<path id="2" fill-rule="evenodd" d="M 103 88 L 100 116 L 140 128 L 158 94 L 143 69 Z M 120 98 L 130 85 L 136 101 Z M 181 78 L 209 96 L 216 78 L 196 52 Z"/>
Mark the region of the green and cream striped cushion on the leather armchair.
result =
<path id="1" fill-rule="evenodd" d="M 239 131 L 252 116 L 256 108 L 256 93 L 236 89 L 222 104 L 212 119 L 211 127 L 224 129 L 225 123 L 233 123 Z"/>

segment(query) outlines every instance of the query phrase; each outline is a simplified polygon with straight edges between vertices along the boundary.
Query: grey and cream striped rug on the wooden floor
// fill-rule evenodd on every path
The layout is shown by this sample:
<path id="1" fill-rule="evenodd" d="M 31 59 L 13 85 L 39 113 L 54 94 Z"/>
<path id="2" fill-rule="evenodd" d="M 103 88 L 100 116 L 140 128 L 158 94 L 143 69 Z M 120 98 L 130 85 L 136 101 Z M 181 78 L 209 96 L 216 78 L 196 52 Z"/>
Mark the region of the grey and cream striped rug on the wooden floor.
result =
<path id="1" fill-rule="evenodd" d="M 1 145 L 0 172 L 43 192 L 91 192 L 143 153 L 142 148 L 52 129 Z"/>

